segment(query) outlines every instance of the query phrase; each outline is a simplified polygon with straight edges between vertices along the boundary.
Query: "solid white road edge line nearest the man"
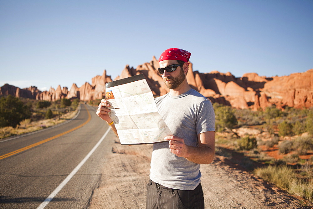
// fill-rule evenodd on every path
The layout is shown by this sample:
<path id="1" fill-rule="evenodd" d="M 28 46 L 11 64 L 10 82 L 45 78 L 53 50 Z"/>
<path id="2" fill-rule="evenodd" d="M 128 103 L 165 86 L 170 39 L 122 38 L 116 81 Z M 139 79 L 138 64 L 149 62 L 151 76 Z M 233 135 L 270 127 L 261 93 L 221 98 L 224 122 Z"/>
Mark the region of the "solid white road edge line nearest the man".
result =
<path id="1" fill-rule="evenodd" d="M 74 170 L 60 183 L 60 185 L 38 206 L 37 209 L 43 209 L 45 206 L 48 205 L 48 203 L 56 196 L 59 191 L 71 180 L 71 178 L 76 174 L 76 172 L 80 169 L 81 166 L 84 165 L 84 163 L 88 160 L 88 158 L 92 155 L 92 153 L 97 149 L 97 147 L 100 145 L 100 143 L 103 141 L 105 136 L 109 133 L 111 128 L 109 127 L 108 130 L 106 130 L 105 134 L 101 137 L 101 139 L 98 141 L 98 143 L 90 150 L 90 152 L 85 156 L 85 158 L 74 168 Z"/>

